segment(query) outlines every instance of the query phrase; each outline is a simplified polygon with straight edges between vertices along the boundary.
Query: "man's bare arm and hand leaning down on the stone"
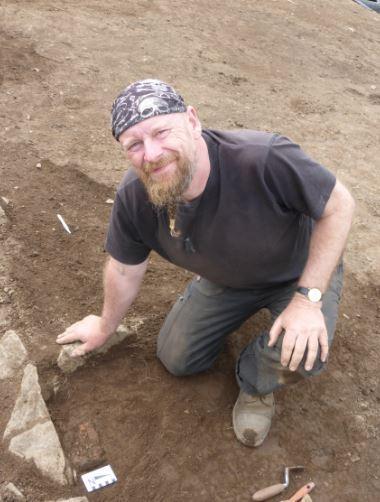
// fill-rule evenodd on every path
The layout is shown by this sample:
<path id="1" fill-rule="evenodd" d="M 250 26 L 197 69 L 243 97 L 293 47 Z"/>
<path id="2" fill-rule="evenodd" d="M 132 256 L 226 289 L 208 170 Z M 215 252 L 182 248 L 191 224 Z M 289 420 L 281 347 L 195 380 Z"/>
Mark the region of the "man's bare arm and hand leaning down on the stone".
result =
<path id="1" fill-rule="evenodd" d="M 101 347 L 116 331 L 140 289 L 148 259 L 138 265 L 125 265 L 109 258 L 104 268 L 104 302 L 102 315 L 89 315 L 57 337 L 57 343 L 83 342 L 73 357 Z"/>

